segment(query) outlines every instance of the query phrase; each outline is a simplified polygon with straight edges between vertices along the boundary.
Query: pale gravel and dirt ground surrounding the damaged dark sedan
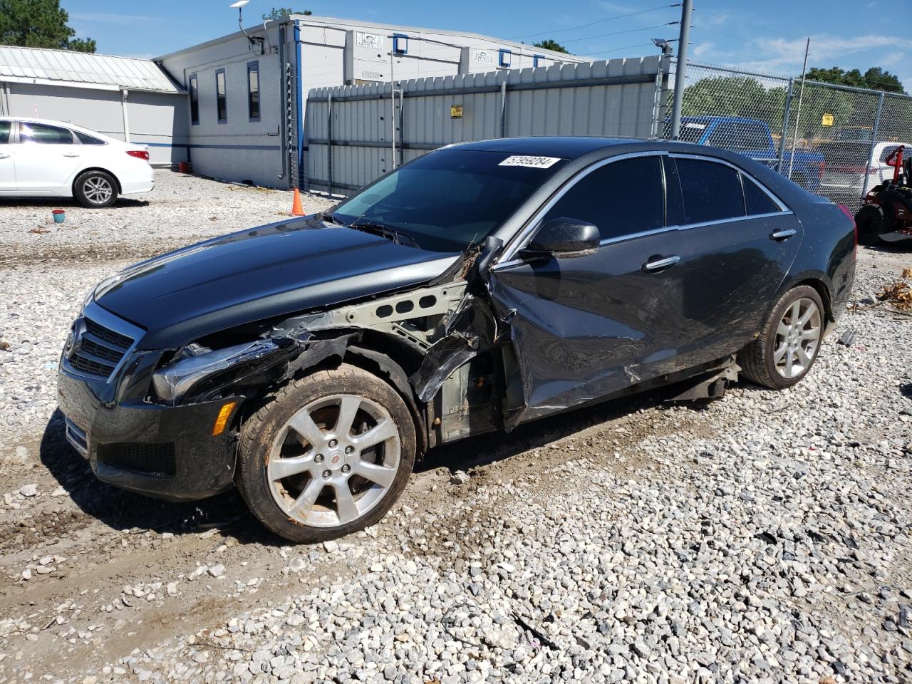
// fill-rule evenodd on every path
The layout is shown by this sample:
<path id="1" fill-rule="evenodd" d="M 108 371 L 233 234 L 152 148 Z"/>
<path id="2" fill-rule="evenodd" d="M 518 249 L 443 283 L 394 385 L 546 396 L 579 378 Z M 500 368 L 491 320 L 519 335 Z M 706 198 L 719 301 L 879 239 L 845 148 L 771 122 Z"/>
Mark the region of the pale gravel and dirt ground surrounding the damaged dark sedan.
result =
<path id="1" fill-rule="evenodd" d="M 181 183 L 244 207 L 225 231 L 288 199 L 156 192 Z M 212 207 L 174 204 L 132 254 L 221 232 L 182 233 Z M 54 255 L 0 264 L 0 683 L 912 680 L 912 317 L 847 313 L 786 391 L 646 395 L 442 448 L 377 526 L 288 546 L 236 494 L 137 505 L 67 448 L 58 349 L 126 262 L 65 261 L 109 254 L 78 233 L 98 224 L 32 237 L 27 212 L 0 206 L 5 252 Z M 862 249 L 857 295 L 908 266 Z"/>

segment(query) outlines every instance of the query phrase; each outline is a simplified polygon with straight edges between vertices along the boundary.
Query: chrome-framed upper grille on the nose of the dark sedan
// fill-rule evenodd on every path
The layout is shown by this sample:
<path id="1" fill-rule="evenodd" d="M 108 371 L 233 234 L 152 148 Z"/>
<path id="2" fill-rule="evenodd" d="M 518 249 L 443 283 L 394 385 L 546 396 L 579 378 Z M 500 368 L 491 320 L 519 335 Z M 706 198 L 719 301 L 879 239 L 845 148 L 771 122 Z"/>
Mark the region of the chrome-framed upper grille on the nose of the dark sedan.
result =
<path id="1" fill-rule="evenodd" d="M 64 367 L 82 376 L 109 380 L 130 353 L 142 330 L 89 302 L 64 349 Z"/>

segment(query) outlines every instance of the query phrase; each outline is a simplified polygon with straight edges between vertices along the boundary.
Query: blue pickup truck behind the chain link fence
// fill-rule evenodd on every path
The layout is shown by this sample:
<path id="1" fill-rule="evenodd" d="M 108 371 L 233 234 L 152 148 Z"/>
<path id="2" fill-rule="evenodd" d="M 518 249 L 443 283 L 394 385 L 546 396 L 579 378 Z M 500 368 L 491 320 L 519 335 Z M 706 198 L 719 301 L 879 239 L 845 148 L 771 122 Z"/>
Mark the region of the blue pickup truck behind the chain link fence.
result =
<path id="1" fill-rule="evenodd" d="M 679 139 L 712 145 L 739 152 L 745 157 L 767 164 L 772 169 L 779 163 L 779 148 L 772 140 L 769 125 L 761 119 L 744 117 L 682 117 Z M 826 161 L 820 152 L 795 150 L 792 180 L 805 190 L 818 192 Z M 782 156 L 782 174 L 789 171 L 791 150 Z"/>

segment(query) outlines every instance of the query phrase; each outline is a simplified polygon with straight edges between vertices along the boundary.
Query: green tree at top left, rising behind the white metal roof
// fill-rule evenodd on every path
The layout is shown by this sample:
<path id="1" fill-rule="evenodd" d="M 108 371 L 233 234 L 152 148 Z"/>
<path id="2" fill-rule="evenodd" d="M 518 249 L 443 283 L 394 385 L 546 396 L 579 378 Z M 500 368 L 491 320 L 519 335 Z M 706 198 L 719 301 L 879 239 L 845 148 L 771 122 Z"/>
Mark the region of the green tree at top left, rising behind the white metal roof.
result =
<path id="1" fill-rule="evenodd" d="M 95 52 L 91 38 L 76 38 L 60 0 L 0 0 L 0 45 Z"/>

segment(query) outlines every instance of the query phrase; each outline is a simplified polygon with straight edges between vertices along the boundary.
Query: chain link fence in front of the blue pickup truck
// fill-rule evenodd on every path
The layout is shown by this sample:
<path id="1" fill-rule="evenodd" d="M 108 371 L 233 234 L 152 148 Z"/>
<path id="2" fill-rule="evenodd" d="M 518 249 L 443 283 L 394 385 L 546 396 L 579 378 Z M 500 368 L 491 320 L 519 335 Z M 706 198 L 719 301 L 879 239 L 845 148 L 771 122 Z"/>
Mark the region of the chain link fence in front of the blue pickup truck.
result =
<path id="1" fill-rule="evenodd" d="M 685 78 L 680 140 L 740 152 L 853 211 L 893 177 L 890 152 L 912 147 L 907 95 L 692 62 Z"/>

